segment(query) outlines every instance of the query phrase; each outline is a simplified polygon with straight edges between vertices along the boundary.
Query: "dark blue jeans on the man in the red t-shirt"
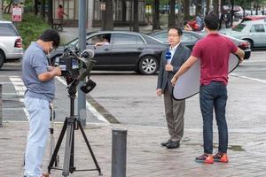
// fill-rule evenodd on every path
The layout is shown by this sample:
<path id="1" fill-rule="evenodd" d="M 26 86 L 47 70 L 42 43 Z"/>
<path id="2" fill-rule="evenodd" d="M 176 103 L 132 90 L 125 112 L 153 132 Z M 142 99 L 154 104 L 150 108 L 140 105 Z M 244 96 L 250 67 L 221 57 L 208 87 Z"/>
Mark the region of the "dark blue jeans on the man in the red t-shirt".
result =
<path id="1" fill-rule="evenodd" d="M 203 119 L 204 153 L 213 153 L 213 110 L 219 133 L 219 152 L 226 153 L 228 129 L 225 119 L 227 89 L 223 82 L 212 81 L 200 86 L 200 110 Z"/>

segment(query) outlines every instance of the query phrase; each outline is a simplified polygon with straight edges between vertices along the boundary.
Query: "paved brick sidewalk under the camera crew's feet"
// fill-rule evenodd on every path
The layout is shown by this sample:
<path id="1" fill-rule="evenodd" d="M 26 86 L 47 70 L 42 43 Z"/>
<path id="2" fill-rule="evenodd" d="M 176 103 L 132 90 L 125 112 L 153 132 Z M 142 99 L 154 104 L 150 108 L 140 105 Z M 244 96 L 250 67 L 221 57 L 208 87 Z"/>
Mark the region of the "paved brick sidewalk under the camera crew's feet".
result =
<path id="1" fill-rule="evenodd" d="M 55 125 L 57 142 L 62 124 Z M 265 129 L 233 129 L 230 132 L 230 163 L 199 164 L 194 158 L 202 153 L 200 129 L 185 129 L 181 146 L 176 150 L 160 147 L 167 139 L 168 131 L 160 127 L 125 125 L 87 125 L 92 150 L 104 176 L 111 176 L 112 128 L 128 130 L 127 176 L 128 177 L 176 177 L 176 176 L 266 176 Z M 27 138 L 27 122 L 4 122 L 0 127 L 0 176 L 20 177 L 23 174 L 23 153 Z M 217 146 L 215 133 L 215 149 Z M 59 150 L 59 165 L 63 165 L 65 142 Z M 43 169 L 49 163 L 49 143 Z M 95 168 L 89 150 L 78 131 L 75 135 L 74 164 L 77 169 Z M 51 171 L 51 176 L 61 176 L 61 171 Z M 97 171 L 74 172 L 70 176 L 98 176 Z"/>

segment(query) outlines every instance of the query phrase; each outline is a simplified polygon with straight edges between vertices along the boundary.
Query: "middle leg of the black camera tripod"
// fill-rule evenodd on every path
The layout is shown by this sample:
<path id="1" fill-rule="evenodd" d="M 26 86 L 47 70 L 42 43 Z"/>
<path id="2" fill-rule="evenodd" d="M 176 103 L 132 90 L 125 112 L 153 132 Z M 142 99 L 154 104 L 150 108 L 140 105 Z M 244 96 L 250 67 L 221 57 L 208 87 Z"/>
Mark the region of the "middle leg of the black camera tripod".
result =
<path id="1" fill-rule="evenodd" d="M 70 156 L 73 145 L 73 134 L 74 134 L 74 119 L 67 119 L 67 129 L 66 129 L 66 149 L 65 149 L 65 158 L 62 175 L 64 177 L 69 175 L 70 167 Z"/>

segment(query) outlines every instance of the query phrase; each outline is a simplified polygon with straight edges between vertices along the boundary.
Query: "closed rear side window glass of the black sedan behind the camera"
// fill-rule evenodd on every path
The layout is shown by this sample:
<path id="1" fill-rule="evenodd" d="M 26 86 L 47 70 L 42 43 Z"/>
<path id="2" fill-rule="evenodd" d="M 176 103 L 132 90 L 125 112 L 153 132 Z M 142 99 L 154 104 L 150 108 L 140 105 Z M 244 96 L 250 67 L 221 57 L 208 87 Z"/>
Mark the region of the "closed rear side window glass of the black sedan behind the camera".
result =
<path id="1" fill-rule="evenodd" d="M 143 39 L 138 35 L 114 34 L 113 44 L 144 44 Z"/>

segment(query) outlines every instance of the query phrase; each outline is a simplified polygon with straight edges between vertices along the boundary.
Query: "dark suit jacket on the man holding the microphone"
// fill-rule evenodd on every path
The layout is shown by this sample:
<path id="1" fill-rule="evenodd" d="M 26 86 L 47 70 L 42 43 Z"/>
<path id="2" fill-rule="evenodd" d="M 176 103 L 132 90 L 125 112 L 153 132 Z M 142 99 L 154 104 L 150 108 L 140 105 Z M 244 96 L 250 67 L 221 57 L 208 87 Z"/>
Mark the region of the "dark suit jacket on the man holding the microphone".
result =
<path id="1" fill-rule="evenodd" d="M 174 74 L 179 70 L 180 66 L 191 56 L 191 50 L 185 47 L 182 43 L 176 48 L 176 52 L 171 60 L 171 65 L 173 65 L 173 72 L 165 71 L 165 65 L 167 65 L 167 59 L 165 57 L 168 49 L 163 50 L 160 57 L 160 71 L 158 75 L 157 89 L 162 89 L 164 93 L 165 89 L 168 89 L 170 94 L 172 94 L 172 83 L 171 79 Z"/>

